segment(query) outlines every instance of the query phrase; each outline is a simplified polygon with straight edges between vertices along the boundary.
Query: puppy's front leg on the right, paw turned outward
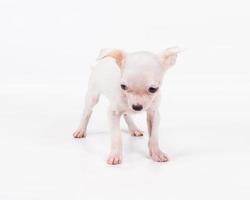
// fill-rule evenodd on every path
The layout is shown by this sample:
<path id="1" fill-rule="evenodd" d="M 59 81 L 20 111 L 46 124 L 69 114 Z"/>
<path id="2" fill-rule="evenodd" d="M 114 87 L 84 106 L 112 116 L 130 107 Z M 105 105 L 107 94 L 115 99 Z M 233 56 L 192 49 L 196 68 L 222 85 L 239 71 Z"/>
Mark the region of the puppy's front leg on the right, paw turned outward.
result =
<path id="1" fill-rule="evenodd" d="M 160 115 L 158 109 L 149 110 L 147 112 L 147 124 L 149 133 L 149 153 L 152 159 L 156 162 L 168 161 L 167 155 L 159 148 L 158 129 L 159 129 Z"/>

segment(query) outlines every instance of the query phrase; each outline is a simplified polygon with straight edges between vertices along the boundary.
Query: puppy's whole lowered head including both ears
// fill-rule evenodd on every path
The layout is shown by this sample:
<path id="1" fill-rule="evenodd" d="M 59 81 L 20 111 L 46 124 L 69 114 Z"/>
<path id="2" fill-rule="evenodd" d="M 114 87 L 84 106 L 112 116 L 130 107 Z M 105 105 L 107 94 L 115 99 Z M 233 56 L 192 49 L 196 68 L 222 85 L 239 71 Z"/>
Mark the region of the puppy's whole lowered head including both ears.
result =
<path id="1" fill-rule="evenodd" d="M 176 49 L 167 49 L 156 55 L 150 52 L 126 54 L 111 50 L 105 56 L 113 57 L 121 71 L 120 89 L 132 111 L 147 110 L 159 95 L 165 71 L 175 64 Z"/>

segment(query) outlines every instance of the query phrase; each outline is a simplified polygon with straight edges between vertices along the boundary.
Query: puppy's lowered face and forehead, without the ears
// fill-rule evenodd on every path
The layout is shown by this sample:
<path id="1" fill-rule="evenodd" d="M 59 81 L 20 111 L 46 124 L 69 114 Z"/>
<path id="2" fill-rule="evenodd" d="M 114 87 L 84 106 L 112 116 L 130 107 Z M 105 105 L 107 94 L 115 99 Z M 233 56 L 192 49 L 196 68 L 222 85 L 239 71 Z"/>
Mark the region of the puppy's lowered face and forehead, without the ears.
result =
<path id="1" fill-rule="evenodd" d="M 127 54 L 121 68 L 121 90 L 133 111 L 148 109 L 159 94 L 164 69 L 148 52 Z"/>

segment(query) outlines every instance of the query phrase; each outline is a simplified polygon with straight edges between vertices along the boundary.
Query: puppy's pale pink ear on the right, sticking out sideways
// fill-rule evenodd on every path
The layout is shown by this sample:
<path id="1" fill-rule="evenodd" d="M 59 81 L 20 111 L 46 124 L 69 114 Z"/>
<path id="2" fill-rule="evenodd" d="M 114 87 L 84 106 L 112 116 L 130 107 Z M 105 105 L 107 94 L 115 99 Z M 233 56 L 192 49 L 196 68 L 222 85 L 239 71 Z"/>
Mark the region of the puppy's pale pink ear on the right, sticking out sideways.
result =
<path id="1" fill-rule="evenodd" d="M 169 69 L 175 64 L 177 55 L 180 52 L 181 50 L 179 48 L 171 47 L 159 54 L 160 61 L 165 69 Z"/>

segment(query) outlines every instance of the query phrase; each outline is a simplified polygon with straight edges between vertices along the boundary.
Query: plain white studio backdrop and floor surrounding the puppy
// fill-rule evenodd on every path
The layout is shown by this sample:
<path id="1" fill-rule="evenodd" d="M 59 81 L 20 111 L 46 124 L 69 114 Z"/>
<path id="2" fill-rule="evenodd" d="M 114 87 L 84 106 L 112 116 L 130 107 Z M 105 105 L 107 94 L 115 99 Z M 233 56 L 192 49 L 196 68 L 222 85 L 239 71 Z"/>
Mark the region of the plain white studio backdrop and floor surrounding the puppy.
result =
<path id="1" fill-rule="evenodd" d="M 0 0 L 0 199 L 249 199 L 249 19 L 241 0 Z M 123 122 L 124 162 L 106 165 L 106 100 L 72 138 L 101 48 L 175 45 L 160 108 L 170 162 Z"/>

